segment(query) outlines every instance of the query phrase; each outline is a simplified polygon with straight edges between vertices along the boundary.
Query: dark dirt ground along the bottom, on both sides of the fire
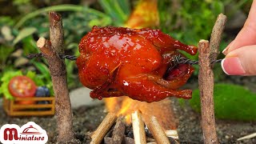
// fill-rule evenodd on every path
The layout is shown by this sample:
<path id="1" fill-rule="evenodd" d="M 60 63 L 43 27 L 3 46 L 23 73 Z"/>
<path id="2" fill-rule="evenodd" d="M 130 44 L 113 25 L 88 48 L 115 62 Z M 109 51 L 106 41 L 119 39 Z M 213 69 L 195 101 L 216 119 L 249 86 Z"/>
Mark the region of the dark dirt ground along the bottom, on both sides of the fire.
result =
<path id="1" fill-rule="evenodd" d="M 172 98 L 174 113 L 178 118 L 178 136 L 181 143 L 203 143 L 202 130 L 200 126 L 200 115 L 191 110 L 188 104 L 180 106 L 176 98 Z M 47 143 L 56 142 L 56 119 L 54 117 L 38 118 L 10 118 L 2 108 L 0 109 L 0 126 L 10 123 L 22 126 L 26 122 L 36 122 L 47 131 L 49 141 Z M 73 110 L 74 114 L 74 131 L 75 136 L 81 143 L 88 143 L 85 134 L 92 132 L 102 122 L 106 115 L 104 105 L 98 106 L 82 106 Z M 217 120 L 218 139 L 221 143 L 256 143 L 256 138 L 251 138 L 243 141 L 236 141 L 246 134 L 256 132 L 256 122 L 234 122 Z"/>

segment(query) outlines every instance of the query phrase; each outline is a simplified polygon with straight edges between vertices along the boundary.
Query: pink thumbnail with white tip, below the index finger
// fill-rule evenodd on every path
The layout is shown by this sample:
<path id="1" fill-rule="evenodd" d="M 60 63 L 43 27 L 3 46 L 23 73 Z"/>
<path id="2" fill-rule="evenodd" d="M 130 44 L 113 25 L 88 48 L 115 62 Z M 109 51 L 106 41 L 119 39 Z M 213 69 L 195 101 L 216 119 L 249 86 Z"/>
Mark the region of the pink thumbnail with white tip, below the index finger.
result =
<path id="1" fill-rule="evenodd" d="M 222 59 L 222 70 L 228 75 L 242 75 L 246 74 L 243 70 L 239 58 L 224 58 Z"/>

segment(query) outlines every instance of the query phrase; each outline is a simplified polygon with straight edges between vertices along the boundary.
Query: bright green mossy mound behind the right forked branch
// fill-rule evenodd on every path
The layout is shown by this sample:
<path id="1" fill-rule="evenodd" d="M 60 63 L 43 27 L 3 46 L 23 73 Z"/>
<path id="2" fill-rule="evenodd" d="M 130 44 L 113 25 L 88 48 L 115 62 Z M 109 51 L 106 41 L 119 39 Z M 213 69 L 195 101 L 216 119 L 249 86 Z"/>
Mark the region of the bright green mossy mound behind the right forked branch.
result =
<path id="1" fill-rule="evenodd" d="M 199 90 L 193 91 L 190 106 L 200 112 Z M 232 84 L 214 85 L 215 117 L 229 120 L 255 121 L 256 94 Z"/>

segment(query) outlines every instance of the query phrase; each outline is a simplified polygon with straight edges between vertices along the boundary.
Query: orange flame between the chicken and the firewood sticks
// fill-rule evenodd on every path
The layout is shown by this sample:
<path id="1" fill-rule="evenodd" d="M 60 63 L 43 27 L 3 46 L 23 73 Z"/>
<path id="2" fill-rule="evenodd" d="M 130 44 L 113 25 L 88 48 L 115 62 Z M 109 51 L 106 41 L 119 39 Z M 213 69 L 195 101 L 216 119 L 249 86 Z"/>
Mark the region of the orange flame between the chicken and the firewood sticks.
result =
<path id="1" fill-rule="evenodd" d="M 129 97 L 114 97 L 105 98 L 106 109 L 109 112 L 114 112 L 118 115 L 126 117 L 126 123 L 130 124 L 130 114 L 135 110 L 142 111 L 142 118 L 144 122 L 148 122 L 151 116 L 155 116 L 158 122 L 165 130 L 175 130 L 176 119 L 174 118 L 173 110 L 171 107 L 170 98 L 166 98 L 160 102 L 140 102 L 133 100 Z"/>

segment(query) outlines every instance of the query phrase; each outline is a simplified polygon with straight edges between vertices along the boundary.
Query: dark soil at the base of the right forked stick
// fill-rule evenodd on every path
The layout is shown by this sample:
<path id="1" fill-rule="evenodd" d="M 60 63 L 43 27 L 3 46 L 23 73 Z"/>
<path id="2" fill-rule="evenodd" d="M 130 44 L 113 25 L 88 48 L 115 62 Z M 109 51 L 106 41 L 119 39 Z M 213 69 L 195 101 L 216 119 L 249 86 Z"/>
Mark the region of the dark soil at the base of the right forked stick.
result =
<path id="1" fill-rule="evenodd" d="M 201 115 L 191 109 L 188 102 L 181 106 L 177 99 L 173 100 L 174 112 L 179 120 L 178 137 L 181 143 L 203 143 Z M 256 132 L 256 122 L 236 122 L 216 120 L 216 130 L 220 143 L 256 143 L 256 138 L 237 141 L 242 136 Z"/>

